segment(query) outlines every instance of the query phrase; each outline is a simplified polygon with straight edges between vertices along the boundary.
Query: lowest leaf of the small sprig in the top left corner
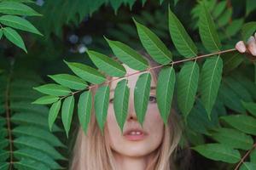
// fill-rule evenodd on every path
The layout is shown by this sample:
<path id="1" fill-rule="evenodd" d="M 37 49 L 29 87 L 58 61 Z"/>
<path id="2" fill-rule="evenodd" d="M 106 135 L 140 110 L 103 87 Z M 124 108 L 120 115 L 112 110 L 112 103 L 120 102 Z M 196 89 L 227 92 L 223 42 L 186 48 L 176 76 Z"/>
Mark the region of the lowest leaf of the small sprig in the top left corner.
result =
<path id="1" fill-rule="evenodd" d="M 4 27 L 3 35 L 7 37 L 10 42 L 13 42 L 16 46 L 23 49 L 27 53 L 25 44 L 17 31 L 10 27 Z"/>

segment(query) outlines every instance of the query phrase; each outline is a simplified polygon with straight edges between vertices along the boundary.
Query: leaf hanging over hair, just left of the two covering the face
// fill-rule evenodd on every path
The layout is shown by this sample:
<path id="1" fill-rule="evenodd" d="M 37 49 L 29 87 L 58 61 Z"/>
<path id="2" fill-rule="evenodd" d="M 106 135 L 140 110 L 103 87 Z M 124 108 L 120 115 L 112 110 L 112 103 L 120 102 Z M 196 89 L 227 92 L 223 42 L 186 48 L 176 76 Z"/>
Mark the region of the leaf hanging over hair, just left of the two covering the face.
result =
<path id="1" fill-rule="evenodd" d="M 96 112 L 96 121 L 103 133 L 103 127 L 106 122 L 108 114 L 108 101 L 109 101 L 109 87 L 102 86 L 96 90 L 95 95 L 95 112 Z"/>

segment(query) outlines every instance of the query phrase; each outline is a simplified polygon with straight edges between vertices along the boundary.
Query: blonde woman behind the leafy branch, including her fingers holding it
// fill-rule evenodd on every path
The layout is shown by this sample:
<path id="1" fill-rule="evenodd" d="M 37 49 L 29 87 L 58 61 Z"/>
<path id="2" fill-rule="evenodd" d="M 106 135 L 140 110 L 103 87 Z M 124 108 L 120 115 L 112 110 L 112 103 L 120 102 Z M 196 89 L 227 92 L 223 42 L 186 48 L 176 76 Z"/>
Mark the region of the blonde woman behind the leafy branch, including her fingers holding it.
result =
<path id="1" fill-rule="evenodd" d="M 247 45 L 244 42 L 237 42 L 236 49 L 245 53 L 248 52 L 256 56 L 256 34 L 250 37 Z M 149 65 L 157 65 L 147 55 Z M 132 74 L 132 70 L 124 65 L 127 74 Z M 124 133 L 120 132 L 118 123 L 115 120 L 113 110 L 113 90 L 118 81 L 109 84 L 110 101 L 108 106 L 108 117 L 102 135 L 96 124 L 94 109 L 88 128 L 87 136 L 81 127 L 73 150 L 72 170 L 176 170 L 173 158 L 177 144 L 181 138 L 182 128 L 177 116 L 176 99 L 174 96 L 172 111 L 169 116 L 168 126 L 160 118 L 159 110 L 155 98 L 155 87 L 160 69 L 149 71 L 152 78 L 151 92 L 148 103 L 148 110 L 143 123 L 143 128 L 137 122 L 137 116 L 133 105 L 133 92 L 139 74 L 128 77 L 128 87 L 130 88 L 130 99 L 128 115 L 124 126 Z M 145 71 L 147 72 L 147 71 Z M 116 78 L 116 77 L 112 77 Z M 126 77 L 127 78 L 127 77 Z M 110 80 L 111 77 L 108 77 Z M 123 78 L 122 78 L 123 79 Z M 98 88 L 98 87 L 96 87 Z M 96 88 L 92 88 L 92 94 L 96 93 Z"/>

